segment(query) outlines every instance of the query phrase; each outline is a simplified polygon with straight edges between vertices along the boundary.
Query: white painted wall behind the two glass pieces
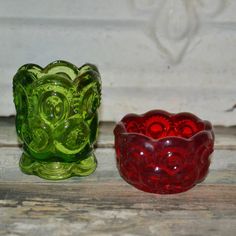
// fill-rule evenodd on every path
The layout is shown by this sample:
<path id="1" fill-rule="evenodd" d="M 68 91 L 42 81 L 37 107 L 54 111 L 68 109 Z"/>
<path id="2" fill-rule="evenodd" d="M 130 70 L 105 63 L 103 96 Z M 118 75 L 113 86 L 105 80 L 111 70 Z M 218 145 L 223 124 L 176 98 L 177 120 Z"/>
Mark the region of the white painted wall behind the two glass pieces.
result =
<path id="1" fill-rule="evenodd" d="M 235 125 L 235 0 L 0 0 L 0 116 L 25 63 L 95 63 L 102 120 L 153 108 Z"/>

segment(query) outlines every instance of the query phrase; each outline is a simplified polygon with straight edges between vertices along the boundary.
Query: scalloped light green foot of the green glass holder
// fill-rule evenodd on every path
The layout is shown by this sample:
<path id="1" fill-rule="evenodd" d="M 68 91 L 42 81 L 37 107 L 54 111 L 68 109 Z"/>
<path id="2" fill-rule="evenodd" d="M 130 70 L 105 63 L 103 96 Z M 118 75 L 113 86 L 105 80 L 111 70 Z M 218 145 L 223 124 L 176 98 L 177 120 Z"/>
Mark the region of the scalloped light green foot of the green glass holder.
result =
<path id="1" fill-rule="evenodd" d="M 67 163 L 38 161 L 23 153 L 19 165 L 25 174 L 37 175 L 48 180 L 62 180 L 92 174 L 97 167 L 97 161 L 94 154 L 81 161 Z"/>

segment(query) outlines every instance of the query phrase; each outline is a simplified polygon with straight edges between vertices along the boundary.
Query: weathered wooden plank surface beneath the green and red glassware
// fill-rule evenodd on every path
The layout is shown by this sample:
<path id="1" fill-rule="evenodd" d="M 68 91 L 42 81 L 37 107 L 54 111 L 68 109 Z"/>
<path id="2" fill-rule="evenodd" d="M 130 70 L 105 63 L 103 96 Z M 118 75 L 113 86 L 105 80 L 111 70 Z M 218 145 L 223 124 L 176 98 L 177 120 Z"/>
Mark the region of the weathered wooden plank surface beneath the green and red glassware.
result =
<path id="1" fill-rule="evenodd" d="M 0 235 L 236 235 L 236 127 L 215 127 L 207 179 L 185 193 L 155 195 L 116 169 L 113 123 L 102 123 L 98 168 L 53 182 L 20 172 L 14 118 L 0 119 Z"/>

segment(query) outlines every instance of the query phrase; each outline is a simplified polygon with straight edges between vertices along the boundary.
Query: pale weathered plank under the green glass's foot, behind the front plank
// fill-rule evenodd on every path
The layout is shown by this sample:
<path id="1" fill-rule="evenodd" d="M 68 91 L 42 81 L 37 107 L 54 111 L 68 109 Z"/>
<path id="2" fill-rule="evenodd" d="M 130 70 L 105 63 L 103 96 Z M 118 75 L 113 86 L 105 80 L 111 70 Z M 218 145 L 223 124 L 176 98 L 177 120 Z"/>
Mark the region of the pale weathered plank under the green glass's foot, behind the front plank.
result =
<path id="1" fill-rule="evenodd" d="M 22 150 L 15 148 L 0 148 L 0 180 L 6 183 L 55 183 L 39 177 L 23 174 L 18 166 Z M 106 182 L 121 180 L 115 163 L 115 152 L 111 148 L 98 148 L 95 151 L 98 167 L 96 171 L 86 178 L 70 178 L 61 183 Z M 216 150 L 212 157 L 210 172 L 202 184 L 236 184 L 236 151 Z"/>

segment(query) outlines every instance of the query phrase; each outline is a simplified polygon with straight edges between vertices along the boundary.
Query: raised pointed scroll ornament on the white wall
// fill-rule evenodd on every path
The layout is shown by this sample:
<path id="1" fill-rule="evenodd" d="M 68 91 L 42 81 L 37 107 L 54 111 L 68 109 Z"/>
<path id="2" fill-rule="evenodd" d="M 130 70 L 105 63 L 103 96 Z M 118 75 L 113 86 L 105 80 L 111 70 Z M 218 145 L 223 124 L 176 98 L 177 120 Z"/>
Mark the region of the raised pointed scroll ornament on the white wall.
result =
<path id="1" fill-rule="evenodd" d="M 133 0 L 132 5 L 148 15 L 145 31 L 161 54 L 177 64 L 196 44 L 202 21 L 220 14 L 226 0 Z"/>

